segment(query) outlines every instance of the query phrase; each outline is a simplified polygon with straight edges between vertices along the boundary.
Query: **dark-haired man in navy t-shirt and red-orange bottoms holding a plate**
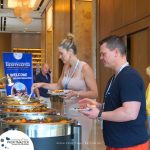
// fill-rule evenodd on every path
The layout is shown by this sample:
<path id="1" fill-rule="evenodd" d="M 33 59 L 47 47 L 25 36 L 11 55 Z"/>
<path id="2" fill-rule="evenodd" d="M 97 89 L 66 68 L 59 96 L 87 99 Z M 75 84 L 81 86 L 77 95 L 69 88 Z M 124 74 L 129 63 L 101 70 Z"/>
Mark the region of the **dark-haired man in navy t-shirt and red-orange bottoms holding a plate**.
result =
<path id="1" fill-rule="evenodd" d="M 100 60 L 114 74 L 106 86 L 104 104 L 85 98 L 79 101 L 80 107 L 90 107 L 90 111 L 80 112 L 103 120 L 106 150 L 148 150 L 144 82 L 126 56 L 120 37 L 110 36 L 100 42 Z"/>

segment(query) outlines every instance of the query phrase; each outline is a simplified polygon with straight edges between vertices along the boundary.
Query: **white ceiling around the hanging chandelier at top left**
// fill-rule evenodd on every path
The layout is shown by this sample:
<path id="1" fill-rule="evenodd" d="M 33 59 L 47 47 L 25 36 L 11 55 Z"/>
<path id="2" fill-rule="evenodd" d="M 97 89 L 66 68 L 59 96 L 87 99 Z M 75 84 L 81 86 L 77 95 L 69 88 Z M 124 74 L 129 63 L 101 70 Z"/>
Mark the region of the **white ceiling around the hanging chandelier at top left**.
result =
<path id="1" fill-rule="evenodd" d="M 50 1 L 37 0 L 38 5 L 31 13 L 32 22 L 25 24 L 14 16 L 13 9 L 7 7 L 8 0 L 0 0 L 0 33 L 40 33 L 41 14 Z"/>

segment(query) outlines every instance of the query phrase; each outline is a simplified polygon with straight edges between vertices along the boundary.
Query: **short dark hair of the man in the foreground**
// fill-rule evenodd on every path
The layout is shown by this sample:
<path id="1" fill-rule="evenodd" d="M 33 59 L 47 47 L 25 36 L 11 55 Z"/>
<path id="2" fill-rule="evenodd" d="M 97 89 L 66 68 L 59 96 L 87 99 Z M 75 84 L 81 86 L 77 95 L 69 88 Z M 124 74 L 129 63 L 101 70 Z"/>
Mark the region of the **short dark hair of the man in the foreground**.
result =
<path id="1" fill-rule="evenodd" d="M 114 50 L 115 48 L 118 48 L 122 55 L 127 54 L 127 48 L 122 38 L 119 36 L 111 35 L 99 42 L 100 45 L 104 43 L 106 43 L 107 48 L 109 48 L 110 50 Z"/>

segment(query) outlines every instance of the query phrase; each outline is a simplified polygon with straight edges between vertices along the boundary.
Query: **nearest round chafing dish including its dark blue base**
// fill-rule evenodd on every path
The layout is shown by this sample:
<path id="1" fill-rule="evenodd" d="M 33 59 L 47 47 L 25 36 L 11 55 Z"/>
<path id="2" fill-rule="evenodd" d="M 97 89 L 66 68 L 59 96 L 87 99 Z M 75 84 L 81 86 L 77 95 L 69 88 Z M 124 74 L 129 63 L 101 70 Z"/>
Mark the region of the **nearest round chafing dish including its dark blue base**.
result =
<path id="1" fill-rule="evenodd" d="M 80 150 L 81 126 L 76 121 L 59 115 L 31 115 L 25 119 L 31 122 L 18 122 L 22 117 L 4 118 L 1 120 L 1 133 L 13 129 L 27 134 L 35 150 Z M 52 122 L 40 122 L 40 120 L 52 118 Z M 34 122 L 37 119 L 39 122 Z M 15 121 L 16 120 L 16 121 Z"/>

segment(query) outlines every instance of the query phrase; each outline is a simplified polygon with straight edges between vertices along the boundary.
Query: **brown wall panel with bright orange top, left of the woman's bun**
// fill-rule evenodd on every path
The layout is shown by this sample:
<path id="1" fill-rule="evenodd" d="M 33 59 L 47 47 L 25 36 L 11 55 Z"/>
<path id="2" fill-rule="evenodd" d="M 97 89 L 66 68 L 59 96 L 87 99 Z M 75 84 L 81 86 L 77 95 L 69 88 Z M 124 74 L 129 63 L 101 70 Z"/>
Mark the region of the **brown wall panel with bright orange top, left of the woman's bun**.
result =
<path id="1" fill-rule="evenodd" d="M 58 44 L 70 32 L 70 0 L 55 0 L 53 2 L 53 58 L 54 82 L 58 80 L 62 71 L 62 62 L 58 59 Z"/>

